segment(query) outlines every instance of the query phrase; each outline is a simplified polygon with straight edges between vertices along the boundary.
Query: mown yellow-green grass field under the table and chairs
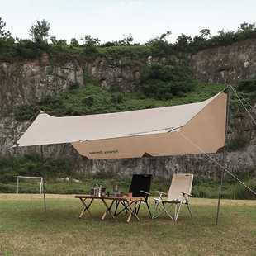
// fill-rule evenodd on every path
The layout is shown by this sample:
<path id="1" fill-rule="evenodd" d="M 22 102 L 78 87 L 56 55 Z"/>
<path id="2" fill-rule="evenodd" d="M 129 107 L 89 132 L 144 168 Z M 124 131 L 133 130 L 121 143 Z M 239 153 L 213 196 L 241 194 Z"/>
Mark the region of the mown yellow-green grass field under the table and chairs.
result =
<path id="1" fill-rule="evenodd" d="M 0 195 L 0 255 L 256 255 L 256 201 L 223 200 L 216 226 L 216 200 L 192 198 L 193 218 L 185 208 L 177 223 L 165 216 L 140 222 L 126 216 L 78 219 L 80 202 L 72 195 Z"/>

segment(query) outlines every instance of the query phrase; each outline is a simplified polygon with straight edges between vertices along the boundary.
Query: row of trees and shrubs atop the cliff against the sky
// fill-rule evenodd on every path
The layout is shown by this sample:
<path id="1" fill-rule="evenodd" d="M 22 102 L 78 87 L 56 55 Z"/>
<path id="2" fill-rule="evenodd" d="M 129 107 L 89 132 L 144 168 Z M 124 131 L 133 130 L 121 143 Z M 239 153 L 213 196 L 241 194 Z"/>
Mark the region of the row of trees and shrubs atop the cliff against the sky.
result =
<path id="1" fill-rule="evenodd" d="M 52 58 L 78 58 L 78 59 L 95 59 L 97 57 L 106 57 L 107 59 L 129 58 L 145 59 L 149 55 L 154 57 L 166 57 L 169 55 L 195 53 L 211 47 L 221 45 L 231 45 L 240 40 L 256 38 L 255 24 L 242 23 L 236 31 L 218 31 L 218 34 L 211 36 L 209 29 L 203 29 L 200 34 L 187 36 L 181 34 L 173 43 L 168 42 L 171 31 L 167 31 L 144 45 L 133 42 L 133 36 L 125 36 L 122 40 L 113 40 L 102 43 L 98 38 L 85 35 L 81 38 L 79 44 L 76 38 L 70 42 L 67 39 L 56 39 L 51 36 L 50 40 L 50 22 L 36 21 L 31 26 L 29 32 L 31 40 L 18 39 L 12 37 L 10 31 L 5 30 L 6 23 L 0 17 L 0 59 L 13 61 L 14 59 L 36 59 L 43 52 L 47 52 Z"/>

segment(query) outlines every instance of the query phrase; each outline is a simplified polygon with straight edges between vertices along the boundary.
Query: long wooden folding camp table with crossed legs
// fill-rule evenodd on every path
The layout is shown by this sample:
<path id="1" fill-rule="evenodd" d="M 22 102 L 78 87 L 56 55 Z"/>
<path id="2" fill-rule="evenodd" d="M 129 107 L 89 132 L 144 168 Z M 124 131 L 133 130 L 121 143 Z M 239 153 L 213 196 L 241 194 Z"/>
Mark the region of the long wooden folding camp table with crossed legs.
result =
<path id="1" fill-rule="evenodd" d="M 121 203 L 121 205 L 126 208 L 126 211 L 129 212 L 126 220 L 128 223 L 132 216 L 137 220 L 140 220 L 137 215 L 137 208 L 140 205 L 140 201 L 144 199 L 142 197 L 96 197 L 92 195 L 77 195 L 75 198 L 78 198 L 83 204 L 83 211 L 81 211 L 79 218 L 82 218 L 85 212 L 88 212 L 89 215 L 92 216 L 89 208 L 92 206 L 92 201 L 98 199 L 101 200 L 103 205 L 106 207 L 106 211 L 103 212 L 101 220 L 105 220 L 107 214 L 109 214 L 113 219 L 115 218 L 115 214 L 112 213 L 111 209 L 116 202 L 116 206 Z M 111 203 L 108 205 L 107 201 L 111 201 Z"/>

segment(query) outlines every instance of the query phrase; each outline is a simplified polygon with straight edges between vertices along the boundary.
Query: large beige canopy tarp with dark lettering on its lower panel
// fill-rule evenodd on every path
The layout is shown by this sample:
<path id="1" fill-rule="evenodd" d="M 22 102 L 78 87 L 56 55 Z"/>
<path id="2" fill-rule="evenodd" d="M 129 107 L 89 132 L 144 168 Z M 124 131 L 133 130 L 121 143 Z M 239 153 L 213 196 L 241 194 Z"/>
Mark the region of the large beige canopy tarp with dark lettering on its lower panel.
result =
<path id="1" fill-rule="evenodd" d="M 226 103 L 220 92 L 204 102 L 138 111 L 69 117 L 41 112 L 17 145 L 71 143 L 88 159 L 216 153 L 225 145 Z"/>

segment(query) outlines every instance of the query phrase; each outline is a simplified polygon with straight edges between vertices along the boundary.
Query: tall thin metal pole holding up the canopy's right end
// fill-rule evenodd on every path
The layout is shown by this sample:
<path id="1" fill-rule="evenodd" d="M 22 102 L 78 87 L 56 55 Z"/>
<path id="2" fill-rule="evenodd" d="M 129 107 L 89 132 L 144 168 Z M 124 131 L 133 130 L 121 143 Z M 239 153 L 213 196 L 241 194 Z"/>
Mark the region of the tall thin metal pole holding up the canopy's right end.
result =
<path id="1" fill-rule="evenodd" d="M 223 150 L 223 164 L 225 162 L 225 155 L 226 155 L 226 140 L 227 140 L 227 134 L 230 124 L 230 85 L 227 88 L 227 104 L 226 104 L 226 120 L 225 120 L 225 145 Z M 216 213 L 216 225 L 219 223 L 219 217 L 220 217 L 220 200 L 221 200 L 221 194 L 222 194 L 222 184 L 224 179 L 225 169 L 222 168 L 221 170 L 221 177 L 220 177 L 220 188 L 219 188 L 219 197 L 218 197 L 218 206 L 217 206 L 217 213 Z"/>

